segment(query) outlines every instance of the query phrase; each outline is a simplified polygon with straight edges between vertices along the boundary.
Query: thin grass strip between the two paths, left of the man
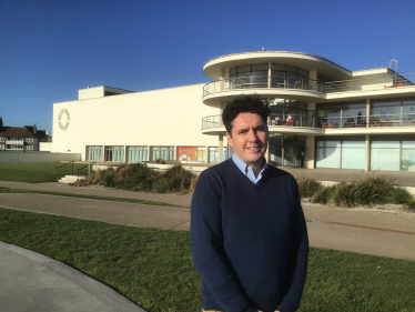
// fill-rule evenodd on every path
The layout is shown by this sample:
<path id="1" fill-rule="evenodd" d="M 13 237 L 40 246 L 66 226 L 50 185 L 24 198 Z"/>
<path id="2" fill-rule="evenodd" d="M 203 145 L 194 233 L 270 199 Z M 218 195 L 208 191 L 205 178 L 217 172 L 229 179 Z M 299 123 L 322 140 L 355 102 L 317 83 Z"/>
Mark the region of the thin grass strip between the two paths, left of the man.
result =
<path id="1" fill-rule="evenodd" d="M 141 204 L 162 205 L 162 207 L 189 208 L 189 207 L 182 207 L 182 205 L 176 205 L 176 204 L 160 202 L 160 201 L 99 197 L 99 195 L 89 195 L 89 194 L 73 194 L 73 193 L 40 191 L 40 190 L 10 189 L 10 188 L 2 188 L 2 187 L 0 187 L 0 193 L 23 193 L 23 194 L 33 193 L 33 194 L 58 195 L 58 197 L 69 197 L 69 198 L 78 198 L 78 199 L 91 199 L 91 200 L 130 202 L 130 203 L 141 203 Z"/>

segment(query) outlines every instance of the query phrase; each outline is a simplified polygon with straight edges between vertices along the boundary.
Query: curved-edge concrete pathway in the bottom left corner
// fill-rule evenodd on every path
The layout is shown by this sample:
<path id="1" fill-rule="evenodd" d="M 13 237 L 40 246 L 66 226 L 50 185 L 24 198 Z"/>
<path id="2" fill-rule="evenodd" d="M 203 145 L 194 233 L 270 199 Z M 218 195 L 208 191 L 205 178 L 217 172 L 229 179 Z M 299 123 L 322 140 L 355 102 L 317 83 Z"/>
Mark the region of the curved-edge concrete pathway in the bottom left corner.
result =
<path id="1" fill-rule="evenodd" d="M 59 261 L 0 242 L 0 311 L 144 312 L 145 310 Z"/>

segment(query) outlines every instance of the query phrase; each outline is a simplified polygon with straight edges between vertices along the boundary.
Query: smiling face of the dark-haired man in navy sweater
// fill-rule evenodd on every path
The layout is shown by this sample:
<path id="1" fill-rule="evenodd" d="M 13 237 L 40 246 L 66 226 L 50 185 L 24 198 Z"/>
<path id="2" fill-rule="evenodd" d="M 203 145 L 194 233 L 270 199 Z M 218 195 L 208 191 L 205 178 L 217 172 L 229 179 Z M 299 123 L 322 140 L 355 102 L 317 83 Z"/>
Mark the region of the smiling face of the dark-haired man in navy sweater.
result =
<path id="1" fill-rule="evenodd" d="M 269 131 L 256 113 L 242 112 L 233 120 L 232 137 L 226 132 L 227 142 L 240 160 L 262 167 L 269 143 Z"/>

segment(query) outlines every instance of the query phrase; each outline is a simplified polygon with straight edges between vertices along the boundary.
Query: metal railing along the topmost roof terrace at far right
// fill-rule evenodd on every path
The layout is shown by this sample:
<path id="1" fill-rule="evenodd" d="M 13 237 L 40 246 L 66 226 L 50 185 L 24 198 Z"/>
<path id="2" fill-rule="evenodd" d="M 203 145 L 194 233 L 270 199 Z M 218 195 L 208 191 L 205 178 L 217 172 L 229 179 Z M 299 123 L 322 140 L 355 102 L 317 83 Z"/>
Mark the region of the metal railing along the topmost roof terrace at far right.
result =
<path id="1" fill-rule="evenodd" d="M 331 81 L 325 83 L 323 92 L 370 91 L 389 88 L 415 85 L 415 73 L 397 76 L 377 76 L 374 78 L 356 78 L 353 80 Z"/>

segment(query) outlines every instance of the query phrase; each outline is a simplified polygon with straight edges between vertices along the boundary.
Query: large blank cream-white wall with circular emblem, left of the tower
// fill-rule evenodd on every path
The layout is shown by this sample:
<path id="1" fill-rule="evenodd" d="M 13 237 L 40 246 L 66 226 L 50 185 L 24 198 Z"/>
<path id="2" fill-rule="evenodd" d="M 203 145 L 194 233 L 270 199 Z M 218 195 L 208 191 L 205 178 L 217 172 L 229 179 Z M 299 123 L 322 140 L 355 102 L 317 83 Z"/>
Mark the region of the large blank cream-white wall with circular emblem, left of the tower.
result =
<path id="1" fill-rule="evenodd" d="M 203 84 L 134 92 L 53 104 L 53 152 L 81 153 L 87 145 L 217 147 L 201 133 L 202 118 L 220 110 L 202 102 Z M 59 112 L 70 124 L 61 130 Z"/>

